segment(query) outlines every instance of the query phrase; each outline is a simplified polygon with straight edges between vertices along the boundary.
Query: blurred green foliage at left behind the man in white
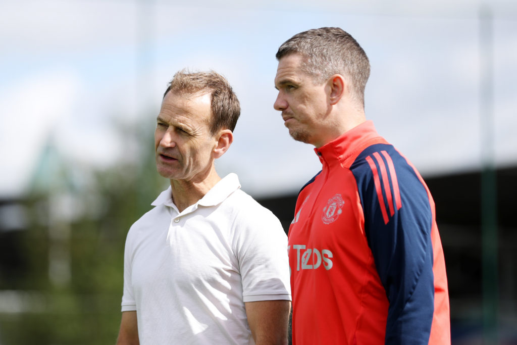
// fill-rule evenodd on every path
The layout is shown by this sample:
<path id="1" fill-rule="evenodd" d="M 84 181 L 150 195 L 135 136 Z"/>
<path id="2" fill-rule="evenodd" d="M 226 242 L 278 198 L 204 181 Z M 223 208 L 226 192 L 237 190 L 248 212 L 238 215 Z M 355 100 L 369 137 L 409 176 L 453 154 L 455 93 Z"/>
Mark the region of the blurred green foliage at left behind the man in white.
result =
<path id="1" fill-rule="evenodd" d="M 64 161 L 52 145 L 44 150 L 24 202 L 27 229 L 11 248 L 23 271 L 0 282 L 17 301 L 16 310 L 0 308 L 2 345 L 115 342 L 126 234 L 167 184 L 155 169 L 152 127 L 115 127 L 136 149 L 107 169 Z"/>

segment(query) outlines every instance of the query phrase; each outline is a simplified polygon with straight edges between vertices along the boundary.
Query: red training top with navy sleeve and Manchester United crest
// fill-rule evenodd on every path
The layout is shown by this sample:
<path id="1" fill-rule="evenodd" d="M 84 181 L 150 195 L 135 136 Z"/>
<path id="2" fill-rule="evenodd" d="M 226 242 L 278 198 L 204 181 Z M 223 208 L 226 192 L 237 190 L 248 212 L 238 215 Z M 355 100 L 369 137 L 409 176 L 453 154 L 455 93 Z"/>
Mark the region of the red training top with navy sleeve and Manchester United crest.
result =
<path id="1" fill-rule="evenodd" d="M 315 149 L 289 230 L 293 344 L 450 344 L 434 202 L 364 122 Z"/>

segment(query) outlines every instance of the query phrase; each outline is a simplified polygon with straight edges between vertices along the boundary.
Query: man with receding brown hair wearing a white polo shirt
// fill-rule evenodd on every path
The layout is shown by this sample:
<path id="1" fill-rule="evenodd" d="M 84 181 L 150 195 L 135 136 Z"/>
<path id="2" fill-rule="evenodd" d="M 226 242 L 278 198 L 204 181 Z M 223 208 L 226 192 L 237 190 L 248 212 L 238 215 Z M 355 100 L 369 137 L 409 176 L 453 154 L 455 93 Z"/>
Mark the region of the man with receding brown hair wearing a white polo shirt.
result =
<path id="1" fill-rule="evenodd" d="M 117 344 L 287 343 L 285 233 L 214 166 L 239 114 L 213 71 L 180 71 L 165 91 L 155 153 L 171 186 L 128 232 Z"/>

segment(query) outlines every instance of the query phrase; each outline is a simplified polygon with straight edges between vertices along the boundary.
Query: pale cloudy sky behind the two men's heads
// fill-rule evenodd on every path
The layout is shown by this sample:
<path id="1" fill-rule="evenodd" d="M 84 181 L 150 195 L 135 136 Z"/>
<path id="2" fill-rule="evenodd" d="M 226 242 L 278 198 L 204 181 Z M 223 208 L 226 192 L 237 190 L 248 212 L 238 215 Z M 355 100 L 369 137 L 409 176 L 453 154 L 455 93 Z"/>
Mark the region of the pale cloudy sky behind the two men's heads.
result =
<path id="1" fill-rule="evenodd" d="M 102 168 L 127 155 L 131 137 L 117 126 L 153 131 L 164 88 L 185 67 L 224 74 L 241 101 L 220 174 L 236 172 L 256 196 L 298 190 L 320 162 L 272 108 L 275 53 L 322 26 L 366 51 L 367 117 L 424 177 L 479 167 L 481 2 L 363 3 L 0 0 L 0 197 L 26 190 L 50 133 L 72 163 Z M 517 3 L 489 8 L 501 166 L 517 163 Z"/>

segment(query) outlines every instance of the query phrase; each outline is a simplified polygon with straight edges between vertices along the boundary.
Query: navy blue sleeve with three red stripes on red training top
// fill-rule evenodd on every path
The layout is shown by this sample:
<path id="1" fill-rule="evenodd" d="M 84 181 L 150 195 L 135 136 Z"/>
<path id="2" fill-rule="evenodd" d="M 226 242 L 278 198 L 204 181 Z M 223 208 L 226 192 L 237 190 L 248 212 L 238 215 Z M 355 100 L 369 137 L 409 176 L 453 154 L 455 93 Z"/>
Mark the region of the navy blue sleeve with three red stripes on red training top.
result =
<path id="1" fill-rule="evenodd" d="M 434 312 L 433 219 L 427 190 L 391 145 L 368 147 L 351 170 L 368 244 L 389 300 L 386 344 L 427 344 Z"/>

